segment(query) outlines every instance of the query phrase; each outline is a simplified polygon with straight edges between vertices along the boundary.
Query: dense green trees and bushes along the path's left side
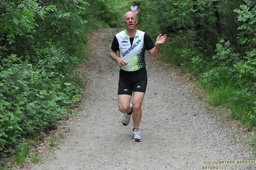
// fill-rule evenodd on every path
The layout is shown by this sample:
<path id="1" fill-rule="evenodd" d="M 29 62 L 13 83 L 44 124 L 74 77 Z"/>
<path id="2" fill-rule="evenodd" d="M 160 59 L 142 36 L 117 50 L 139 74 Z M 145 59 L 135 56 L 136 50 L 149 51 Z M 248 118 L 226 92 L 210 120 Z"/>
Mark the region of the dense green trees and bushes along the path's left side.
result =
<path id="1" fill-rule="evenodd" d="M 107 26 L 92 17 L 103 1 L 0 1 L 0 158 L 28 137 L 56 127 L 81 97 L 86 35 Z M 97 15 L 99 16 L 99 14 Z"/>

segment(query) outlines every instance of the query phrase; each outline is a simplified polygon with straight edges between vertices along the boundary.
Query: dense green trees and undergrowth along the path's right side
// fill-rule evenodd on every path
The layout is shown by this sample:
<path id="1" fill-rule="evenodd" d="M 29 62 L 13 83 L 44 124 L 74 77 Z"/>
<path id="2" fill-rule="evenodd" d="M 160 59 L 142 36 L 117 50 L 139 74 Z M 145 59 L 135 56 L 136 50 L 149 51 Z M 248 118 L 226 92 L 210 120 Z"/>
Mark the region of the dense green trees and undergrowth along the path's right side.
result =
<path id="1" fill-rule="evenodd" d="M 196 75 L 209 92 L 210 103 L 228 107 L 233 118 L 255 127 L 255 1 L 160 0 L 140 4 L 140 19 L 148 23 L 141 27 L 167 33 L 160 59 Z"/>

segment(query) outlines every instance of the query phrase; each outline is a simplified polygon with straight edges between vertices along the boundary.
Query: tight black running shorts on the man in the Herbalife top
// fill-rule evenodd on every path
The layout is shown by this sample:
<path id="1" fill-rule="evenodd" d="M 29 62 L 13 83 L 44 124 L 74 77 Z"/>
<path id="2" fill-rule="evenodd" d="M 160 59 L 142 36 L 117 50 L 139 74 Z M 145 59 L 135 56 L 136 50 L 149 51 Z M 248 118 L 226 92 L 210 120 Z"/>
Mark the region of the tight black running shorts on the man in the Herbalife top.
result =
<path id="1" fill-rule="evenodd" d="M 148 84 L 146 68 L 135 72 L 120 70 L 118 95 L 131 95 L 134 91 L 145 93 Z"/>

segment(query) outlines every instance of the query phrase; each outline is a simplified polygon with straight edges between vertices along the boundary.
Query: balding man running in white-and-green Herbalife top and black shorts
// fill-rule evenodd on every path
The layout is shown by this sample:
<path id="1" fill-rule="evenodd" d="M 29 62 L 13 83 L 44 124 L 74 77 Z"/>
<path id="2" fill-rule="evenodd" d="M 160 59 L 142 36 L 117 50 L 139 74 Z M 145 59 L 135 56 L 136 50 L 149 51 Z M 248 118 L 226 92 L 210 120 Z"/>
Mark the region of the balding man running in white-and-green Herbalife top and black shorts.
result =
<path id="1" fill-rule="evenodd" d="M 110 57 L 120 66 L 118 106 L 119 111 L 124 113 L 123 125 L 133 120 L 133 141 L 141 142 L 142 137 L 139 130 L 142 111 L 141 105 L 148 82 L 146 63 L 144 61 L 145 50 L 151 56 L 157 58 L 160 45 L 166 42 L 166 35 L 157 36 L 157 41 L 153 43 L 150 36 L 143 31 L 137 30 L 137 15 L 134 12 L 124 14 L 124 24 L 126 29 L 117 33 L 112 42 Z M 120 57 L 117 56 L 119 51 Z M 130 100 L 132 99 L 132 105 Z"/>

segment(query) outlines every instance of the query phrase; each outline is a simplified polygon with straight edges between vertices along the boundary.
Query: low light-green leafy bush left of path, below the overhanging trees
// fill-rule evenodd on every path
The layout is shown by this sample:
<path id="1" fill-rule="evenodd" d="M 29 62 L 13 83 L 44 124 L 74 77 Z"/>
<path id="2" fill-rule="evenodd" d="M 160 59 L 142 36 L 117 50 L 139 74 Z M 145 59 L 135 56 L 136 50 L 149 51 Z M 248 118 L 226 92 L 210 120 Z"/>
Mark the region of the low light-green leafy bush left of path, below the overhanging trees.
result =
<path id="1" fill-rule="evenodd" d="M 64 75 L 36 69 L 16 55 L 2 59 L 0 72 L 0 150 L 56 126 L 79 89 Z"/>

